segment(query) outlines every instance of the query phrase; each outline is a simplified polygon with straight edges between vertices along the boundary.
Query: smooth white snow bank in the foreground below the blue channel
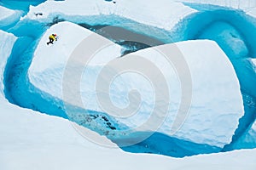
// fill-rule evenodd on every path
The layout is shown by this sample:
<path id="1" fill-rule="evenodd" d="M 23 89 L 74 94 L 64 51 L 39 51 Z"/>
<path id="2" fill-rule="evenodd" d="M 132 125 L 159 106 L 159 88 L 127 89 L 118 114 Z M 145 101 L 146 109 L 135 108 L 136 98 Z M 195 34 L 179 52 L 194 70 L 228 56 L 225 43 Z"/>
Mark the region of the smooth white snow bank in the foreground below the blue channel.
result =
<path id="1" fill-rule="evenodd" d="M 71 122 L 21 109 L 0 97 L 0 168 L 11 169 L 216 169 L 253 170 L 256 150 L 175 159 L 131 154 L 90 143 Z M 102 137 L 104 138 L 104 137 Z"/>

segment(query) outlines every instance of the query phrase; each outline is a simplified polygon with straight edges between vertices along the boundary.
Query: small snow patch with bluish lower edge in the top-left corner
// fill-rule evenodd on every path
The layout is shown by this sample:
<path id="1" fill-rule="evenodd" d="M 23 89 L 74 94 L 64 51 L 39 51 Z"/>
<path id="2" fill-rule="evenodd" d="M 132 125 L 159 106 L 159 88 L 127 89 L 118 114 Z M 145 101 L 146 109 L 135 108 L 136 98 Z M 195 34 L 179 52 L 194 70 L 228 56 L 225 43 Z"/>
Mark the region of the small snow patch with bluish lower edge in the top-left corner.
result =
<path id="1" fill-rule="evenodd" d="M 0 6 L 0 28 L 9 26 L 15 21 L 20 20 L 22 12 L 19 10 L 11 10 Z"/>

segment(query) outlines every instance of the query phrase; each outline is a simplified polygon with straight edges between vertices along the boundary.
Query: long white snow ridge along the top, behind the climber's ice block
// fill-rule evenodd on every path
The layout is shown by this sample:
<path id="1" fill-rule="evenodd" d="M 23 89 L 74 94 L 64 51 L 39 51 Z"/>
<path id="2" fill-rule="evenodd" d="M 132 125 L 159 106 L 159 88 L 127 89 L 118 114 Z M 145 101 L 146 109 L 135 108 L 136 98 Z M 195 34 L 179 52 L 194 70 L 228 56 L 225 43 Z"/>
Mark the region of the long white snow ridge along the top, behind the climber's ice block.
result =
<path id="1" fill-rule="evenodd" d="M 93 25 L 109 25 L 111 23 L 118 23 L 117 20 L 128 19 L 141 24 L 170 30 L 179 20 L 196 12 L 195 9 L 186 7 L 182 3 L 175 3 L 169 0 L 151 1 L 150 3 L 147 0 L 117 0 L 115 2 L 102 0 L 46 1 L 37 7 L 31 6 L 29 13 L 24 19 L 50 22 L 55 16 L 61 14 L 61 18 L 63 17 L 65 20 L 73 20 L 75 22 L 84 17 L 84 19 L 86 18 L 84 20 L 85 23 L 93 23 Z M 143 14 L 141 11 L 143 11 Z M 43 13 L 43 15 L 36 16 L 35 14 L 37 13 Z M 95 16 L 99 15 L 101 19 L 95 20 Z M 119 18 L 116 18 L 116 16 Z"/>

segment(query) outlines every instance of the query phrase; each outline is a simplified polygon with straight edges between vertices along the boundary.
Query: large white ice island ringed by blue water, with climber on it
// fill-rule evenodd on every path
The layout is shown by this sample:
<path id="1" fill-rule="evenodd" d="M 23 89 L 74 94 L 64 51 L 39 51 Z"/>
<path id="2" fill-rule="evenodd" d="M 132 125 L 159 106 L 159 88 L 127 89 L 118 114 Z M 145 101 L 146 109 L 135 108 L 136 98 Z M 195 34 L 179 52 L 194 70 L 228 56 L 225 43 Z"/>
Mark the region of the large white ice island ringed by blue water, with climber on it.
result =
<path id="1" fill-rule="evenodd" d="M 61 36 L 61 39 L 54 45 L 47 47 L 45 43 L 48 41 L 49 32 L 56 32 Z M 69 33 L 67 34 L 67 32 Z M 69 54 L 71 54 L 73 48 L 75 48 L 74 46 L 83 38 L 81 35 L 86 37 L 88 32 L 90 31 L 68 22 L 52 26 L 39 42 L 32 59 L 32 65 L 28 71 L 32 84 L 43 92 L 62 99 L 62 78 L 67 66 L 67 59 L 70 57 Z M 78 35 L 80 39 L 76 39 Z M 110 42 L 110 44 L 113 44 L 113 42 Z M 192 103 L 188 118 L 183 127 L 175 134 L 175 137 L 198 144 L 223 147 L 224 144 L 230 143 L 231 137 L 238 126 L 238 120 L 244 112 L 240 86 L 233 66 L 216 42 L 202 40 L 178 42 L 176 44 L 189 65 L 192 78 Z M 171 48 L 173 44 L 164 46 Z M 116 59 L 119 56 L 119 52 L 119 46 L 111 45 L 97 53 L 94 60 L 84 69 L 80 82 L 76 82 L 68 88 L 68 91 L 72 91 L 73 87 L 76 86 L 75 84 L 80 83 L 81 91 L 76 91 L 74 92 L 75 94 L 69 95 L 68 99 L 65 98 L 63 100 L 80 107 L 85 105 L 86 109 L 93 111 L 105 111 L 104 107 L 102 108 L 102 105 L 98 104 L 98 99 L 96 98 L 98 93 L 96 93 L 96 81 L 103 65 L 111 59 Z M 166 78 L 167 86 L 170 89 L 170 101 L 163 101 L 162 105 L 169 105 L 170 108 L 165 121 L 163 120 L 163 111 L 161 109 L 157 112 L 159 120 L 156 121 L 163 120 L 164 123 L 158 131 L 168 135 L 171 133 L 170 128 L 177 114 L 178 105 L 180 105 L 181 88 L 179 77 L 177 77 L 173 66 L 168 64 L 163 55 L 154 48 L 140 50 L 134 54 L 141 55 L 143 58 L 153 62 L 154 65 L 160 68 Z M 117 62 L 120 59 L 131 59 L 131 55 L 128 54 L 116 59 Z M 71 73 L 73 77 L 77 76 L 80 66 L 83 65 L 79 61 L 74 63 L 74 69 Z M 120 66 L 122 67 L 122 65 Z M 110 68 L 110 71 L 114 70 L 115 68 Z M 154 77 L 154 71 L 151 71 L 150 74 Z M 104 79 L 105 82 L 102 84 L 108 84 L 108 78 L 104 78 L 106 80 Z M 125 108 L 125 106 L 129 105 L 127 96 L 131 89 L 137 89 L 143 101 L 137 114 L 129 116 L 129 118 L 116 117 L 119 122 L 128 127 L 137 127 L 148 119 L 154 107 L 154 89 L 152 89 L 152 84 L 150 83 L 141 75 L 134 75 L 133 73 L 123 74 L 113 79 L 109 91 L 113 105 L 119 108 Z M 77 98 L 80 94 L 84 105 L 78 102 Z M 165 91 L 160 91 L 160 94 L 167 95 Z M 105 103 L 108 101 L 106 96 L 101 97 L 101 99 Z M 131 102 L 131 106 L 136 107 L 137 100 L 138 98 L 135 98 L 135 102 Z M 133 105 L 133 103 L 135 104 Z M 110 112 L 108 114 L 112 115 Z M 154 126 L 148 123 L 143 130 L 154 130 L 152 127 Z"/>

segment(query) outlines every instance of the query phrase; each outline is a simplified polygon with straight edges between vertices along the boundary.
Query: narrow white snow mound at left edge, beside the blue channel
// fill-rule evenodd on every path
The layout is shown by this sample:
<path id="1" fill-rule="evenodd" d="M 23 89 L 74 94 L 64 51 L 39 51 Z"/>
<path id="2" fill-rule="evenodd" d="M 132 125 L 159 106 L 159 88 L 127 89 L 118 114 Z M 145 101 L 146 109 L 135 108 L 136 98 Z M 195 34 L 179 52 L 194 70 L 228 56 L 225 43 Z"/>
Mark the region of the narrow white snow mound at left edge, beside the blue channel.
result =
<path id="1" fill-rule="evenodd" d="M 3 74 L 17 37 L 0 30 L 0 94 L 3 94 Z"/>

